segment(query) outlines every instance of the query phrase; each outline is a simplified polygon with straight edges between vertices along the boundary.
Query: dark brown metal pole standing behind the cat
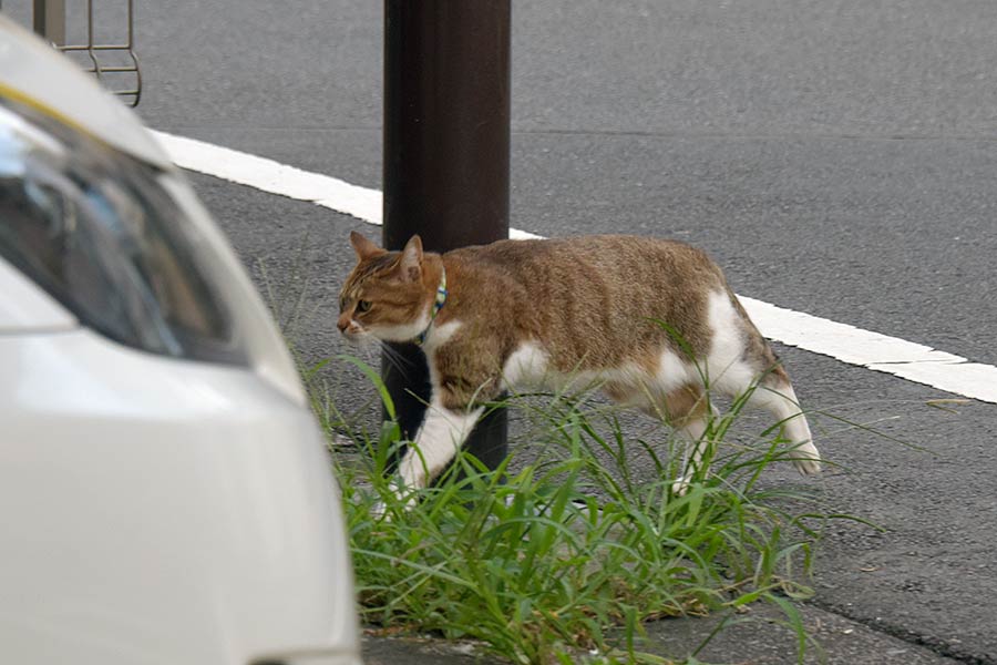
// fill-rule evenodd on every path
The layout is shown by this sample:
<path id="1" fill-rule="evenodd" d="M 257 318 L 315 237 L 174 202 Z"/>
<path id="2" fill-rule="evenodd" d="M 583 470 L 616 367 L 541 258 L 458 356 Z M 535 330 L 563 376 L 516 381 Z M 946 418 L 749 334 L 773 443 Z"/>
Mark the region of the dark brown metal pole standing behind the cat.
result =
<path id="1" fill-rule="evenodd" d="M 384 1 L 384 246 L 419 234 L 430 252 L 508 236 L 510 0 Z M 382 376 L 402 431 L 429 399 L 425 358 L 400 345 Z M 413 395 L 414 393 L 414 395 Z M 506 418 L 482 421 L 465 448 L 494 468 Z"/>

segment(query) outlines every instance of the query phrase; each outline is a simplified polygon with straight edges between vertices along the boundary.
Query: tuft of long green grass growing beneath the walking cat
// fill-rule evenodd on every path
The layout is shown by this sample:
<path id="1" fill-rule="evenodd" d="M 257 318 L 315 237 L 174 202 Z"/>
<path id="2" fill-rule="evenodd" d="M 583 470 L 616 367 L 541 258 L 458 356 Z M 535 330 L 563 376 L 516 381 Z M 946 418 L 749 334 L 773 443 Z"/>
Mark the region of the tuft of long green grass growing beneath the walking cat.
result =
<path id="1" fill-rule="evenodd" d="M 349 361 L 387 400 L 377 374 Z M 323 423 L 336 427 L 335 405 L 314 372 L 306 378 Z M 708 437 L 730 439 L 742 406 L 718 416 Z M 710 451 L 710 472 L 676 497 L 681 456 L 670 454 L 667 428 L 633 440 L 618 411 L 586 393 L 495 407 L 532 424 L 530 444 L 513 444 L 495 471 L 463 453 L 432 488 L 398 497 L 386 473 L 399 446 L 393 422 L 354 434 L 359 452 L 336 456 L 364 623 L 479 641 L 514 663 L 670 663 L 641 651 L 644 622 L 733 615 L 762 601 L 784 611 L 802 662 L 808 637 L 787 598 L 811 594 L 811 526 L 823 518 L 789 512 L 810 499 L 758 482 L 788 463 L 778 426 L 752 444 Z M 372 516 L 379 503 L 382 519 Z M 697 653 L 680 656 L 693 663 Z"/>

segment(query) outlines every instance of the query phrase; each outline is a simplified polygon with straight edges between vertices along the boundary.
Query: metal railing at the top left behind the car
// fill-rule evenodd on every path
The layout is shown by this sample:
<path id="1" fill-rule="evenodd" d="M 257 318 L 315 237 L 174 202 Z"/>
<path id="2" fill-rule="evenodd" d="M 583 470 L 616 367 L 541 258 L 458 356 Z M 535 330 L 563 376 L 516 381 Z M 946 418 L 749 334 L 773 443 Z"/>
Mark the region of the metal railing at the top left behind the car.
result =
<path id="1" fill-rule="evenodd" d="M 112 93 L 123 98 L 125 103 L 137 106 L 142 99 L 142 71 L 135 57 L 134 0 L 125 0 L 124 39 L 111 43 L 101 43 L 94 37 L 94 0 L 85 0 L 84 6 L 79 0 L 70 1 L 73 13 L 68 31 L 65 0 L 32 0 L 34 31 L 96 76 Z M 83 31 L 76 29 L 79 21 L 84 24 Z M 68 41 L 68 34 L 76 40 L 81 32 L 82 41 Z"/>

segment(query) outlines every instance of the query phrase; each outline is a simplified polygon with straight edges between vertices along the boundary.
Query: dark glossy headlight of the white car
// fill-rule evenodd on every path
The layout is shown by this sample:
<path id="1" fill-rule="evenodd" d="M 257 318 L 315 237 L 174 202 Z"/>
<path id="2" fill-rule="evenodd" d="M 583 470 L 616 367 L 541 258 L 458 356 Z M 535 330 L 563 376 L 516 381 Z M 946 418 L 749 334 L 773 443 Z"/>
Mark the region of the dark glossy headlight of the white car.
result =
<path id="1" fill-rule="evenodd" d="M 246 364 L 201 238 L 153 165 L 0 99 L 0 256 L 121 344 Z"/>

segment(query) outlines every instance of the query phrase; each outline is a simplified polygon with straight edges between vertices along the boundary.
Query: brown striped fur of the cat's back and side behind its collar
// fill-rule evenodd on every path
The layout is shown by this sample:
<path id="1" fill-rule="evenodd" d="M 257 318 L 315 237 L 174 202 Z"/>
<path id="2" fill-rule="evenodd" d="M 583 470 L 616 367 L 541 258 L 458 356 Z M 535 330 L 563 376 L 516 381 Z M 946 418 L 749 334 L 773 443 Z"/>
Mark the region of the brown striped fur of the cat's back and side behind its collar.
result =
<path id="1" fill-rule="evenodd" d="M 670 342 L 654 320 L 705 352 L 708 299 L 727 291 L 722 273 L 703 252 L 648 237 L 501 241 L 445 258 L 448 275 L 455 273 L 454 290 L 473 316 L 521 342 L 535 340 L 565 372 L 658 357 Z"/>

